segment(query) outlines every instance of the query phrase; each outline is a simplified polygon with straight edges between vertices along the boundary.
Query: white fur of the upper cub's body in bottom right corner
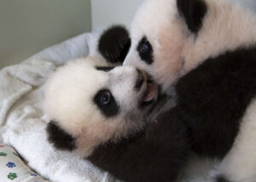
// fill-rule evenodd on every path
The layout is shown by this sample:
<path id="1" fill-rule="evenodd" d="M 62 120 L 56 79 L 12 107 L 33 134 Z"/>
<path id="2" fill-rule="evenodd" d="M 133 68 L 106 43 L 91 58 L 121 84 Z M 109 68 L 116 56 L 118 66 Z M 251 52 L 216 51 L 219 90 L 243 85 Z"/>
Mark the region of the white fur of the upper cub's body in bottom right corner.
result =
<path id="1" fill-rule="evenodd" d="M 233 147 L 216 169 L 214 182 L 256 181 L 256 99 L 241 120 Z"/>

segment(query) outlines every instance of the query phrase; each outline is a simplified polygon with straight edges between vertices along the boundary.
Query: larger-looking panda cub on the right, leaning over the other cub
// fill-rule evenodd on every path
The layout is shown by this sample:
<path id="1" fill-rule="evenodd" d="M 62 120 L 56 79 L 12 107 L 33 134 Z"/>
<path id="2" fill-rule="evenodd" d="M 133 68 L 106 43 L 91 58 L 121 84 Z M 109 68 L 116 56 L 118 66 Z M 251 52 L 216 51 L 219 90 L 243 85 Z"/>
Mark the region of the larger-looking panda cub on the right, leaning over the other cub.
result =
<path id="1" fill-rule="evenodd" d="M 147 0 L 124 65 L 175 88 L 192 150 L 221 161 L 209 181 L 256 180 L 255 15 L 224 0 Z"/>

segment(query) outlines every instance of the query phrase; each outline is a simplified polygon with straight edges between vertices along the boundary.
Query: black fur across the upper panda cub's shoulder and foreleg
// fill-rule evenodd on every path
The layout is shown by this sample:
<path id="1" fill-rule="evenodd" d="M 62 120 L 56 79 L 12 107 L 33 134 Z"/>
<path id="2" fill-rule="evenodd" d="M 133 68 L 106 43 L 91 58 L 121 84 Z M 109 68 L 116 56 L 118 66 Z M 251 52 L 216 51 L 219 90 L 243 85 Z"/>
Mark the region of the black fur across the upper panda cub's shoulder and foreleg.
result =
<path id="1" fill-rule="evenodd" d="M 177 110 L 189 128 L 193 150 L 224 157 L 256 95 L 256 48 L 207 59 L 182 77 L 176 89 Z"/>

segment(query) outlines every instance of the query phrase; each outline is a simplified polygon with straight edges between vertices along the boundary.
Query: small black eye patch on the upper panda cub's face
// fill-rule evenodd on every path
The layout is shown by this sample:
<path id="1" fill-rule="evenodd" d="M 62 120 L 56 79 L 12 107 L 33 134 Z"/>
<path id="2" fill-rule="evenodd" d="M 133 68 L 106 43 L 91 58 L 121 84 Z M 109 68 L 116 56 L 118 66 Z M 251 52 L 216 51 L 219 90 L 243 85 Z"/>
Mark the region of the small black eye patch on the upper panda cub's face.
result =
<path id="1" fill-rule="evenodd" d="M 144 60 L 148 65 L 153 63 L 153 48 L 148 42 L 147 37 L 143 37 L 142 40 L 138 43 L 137 51 L 142 60 Z"/>

